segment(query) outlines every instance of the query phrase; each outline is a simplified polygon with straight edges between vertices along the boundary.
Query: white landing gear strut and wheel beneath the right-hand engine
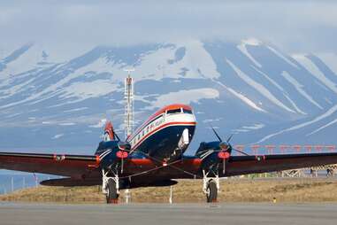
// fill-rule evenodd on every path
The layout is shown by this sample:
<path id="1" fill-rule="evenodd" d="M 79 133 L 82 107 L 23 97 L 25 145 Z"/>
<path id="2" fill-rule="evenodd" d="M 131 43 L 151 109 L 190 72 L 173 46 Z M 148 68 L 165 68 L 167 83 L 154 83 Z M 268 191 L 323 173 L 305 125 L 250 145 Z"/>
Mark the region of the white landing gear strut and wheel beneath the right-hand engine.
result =
<path id="1" fill-rule="evenodd" d="M 218 179 L 218 173 L 213 173 L 214 176 L 209 176 L 211 171 L 205 172 L 203 170 L 203 193 L 206 194 L 207 202 L 217 202 L 218 190 L 220 182 Z"/>

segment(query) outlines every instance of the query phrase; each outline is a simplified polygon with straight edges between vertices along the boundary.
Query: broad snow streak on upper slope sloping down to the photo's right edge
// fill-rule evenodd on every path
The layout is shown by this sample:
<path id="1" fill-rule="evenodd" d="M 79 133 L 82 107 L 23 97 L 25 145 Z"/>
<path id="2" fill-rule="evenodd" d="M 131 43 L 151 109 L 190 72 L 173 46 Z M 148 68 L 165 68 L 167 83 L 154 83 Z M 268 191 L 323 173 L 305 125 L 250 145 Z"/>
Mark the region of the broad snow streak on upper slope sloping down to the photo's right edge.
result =
<path id="1" fill-rule="evenodd" d="M 328 87 L 329 89 L 332 89 L 334 93 L 337 93 L 337 88 L 336 88 L 336 84 L 333 81 L 330 81 L 325 74 L 323 74 L 318 66 L 316 66 L 311 60 L 310 58 L 307 58 L 305 55 L 293 55 L 293 58 L 295 58 L 295 60 L 297 62 L 299 62 L 305 69 L 307 69 L 310 74 L 312 74 L 313 76 L 315 76 L 319 81 L 321 81 L 322 83 L 324 83 L 326 85 L 326 87 Z"/>

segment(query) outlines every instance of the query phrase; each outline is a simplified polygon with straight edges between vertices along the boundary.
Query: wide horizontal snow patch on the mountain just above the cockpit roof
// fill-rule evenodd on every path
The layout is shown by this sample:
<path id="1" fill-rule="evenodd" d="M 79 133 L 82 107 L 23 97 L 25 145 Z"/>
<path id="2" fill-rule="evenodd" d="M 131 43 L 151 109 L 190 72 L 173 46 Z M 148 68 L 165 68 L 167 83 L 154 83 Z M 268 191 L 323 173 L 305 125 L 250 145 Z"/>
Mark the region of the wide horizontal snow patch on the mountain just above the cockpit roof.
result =
<path id="1" fill-rule="evenodd" d="M 147 109 L 154 109 L 157 107 L 163 107 L 172 103 L 191 104 L 198 103 L 199 100 L 204 98 L 217 98 L 219 93 L 217 89 L 183 89 L 177 92 L 170 92 L 157 97 L 157 99 L 151 102 L 150 107 Z"/>

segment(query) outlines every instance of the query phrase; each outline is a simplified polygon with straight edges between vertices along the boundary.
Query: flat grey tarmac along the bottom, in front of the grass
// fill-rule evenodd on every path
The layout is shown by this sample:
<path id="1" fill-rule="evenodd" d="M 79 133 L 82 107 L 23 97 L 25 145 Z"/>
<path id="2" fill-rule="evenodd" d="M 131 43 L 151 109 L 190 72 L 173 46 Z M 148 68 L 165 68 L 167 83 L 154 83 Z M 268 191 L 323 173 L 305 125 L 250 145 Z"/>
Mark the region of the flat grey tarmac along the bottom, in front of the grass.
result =
<path id="1" fill-rule="evenodd" d="M 337 204 L 50 205 L 0 202 L 0 224 L 336 224 Z"/>

